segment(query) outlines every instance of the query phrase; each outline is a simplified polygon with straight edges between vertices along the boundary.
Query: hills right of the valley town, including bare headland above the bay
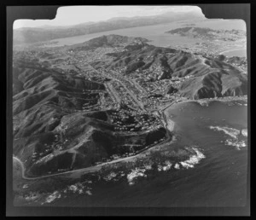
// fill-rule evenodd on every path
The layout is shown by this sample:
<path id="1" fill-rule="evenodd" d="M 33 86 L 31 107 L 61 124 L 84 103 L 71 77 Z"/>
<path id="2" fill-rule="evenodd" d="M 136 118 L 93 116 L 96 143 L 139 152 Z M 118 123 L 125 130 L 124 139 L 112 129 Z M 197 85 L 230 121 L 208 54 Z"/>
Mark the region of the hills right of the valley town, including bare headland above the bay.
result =
<path id="1" fill-rule="evenodd" d="M 142 70 L 155 72 L 158 78 L 184 78 L 180 85 L 181 96 L 201 99 L 215 96 L 242 96 L 247 94 L 247 75 L 228 62 L 217 58 L 193 55 L 175 49 L 154 47 L 147 43 L 126 47 L 119 53 L 108 54 L 113 61 L 95 64 L 95 67 L 126 67 L 126 74 Z M 94 64 L 93 64 L 94 65 Z"/>

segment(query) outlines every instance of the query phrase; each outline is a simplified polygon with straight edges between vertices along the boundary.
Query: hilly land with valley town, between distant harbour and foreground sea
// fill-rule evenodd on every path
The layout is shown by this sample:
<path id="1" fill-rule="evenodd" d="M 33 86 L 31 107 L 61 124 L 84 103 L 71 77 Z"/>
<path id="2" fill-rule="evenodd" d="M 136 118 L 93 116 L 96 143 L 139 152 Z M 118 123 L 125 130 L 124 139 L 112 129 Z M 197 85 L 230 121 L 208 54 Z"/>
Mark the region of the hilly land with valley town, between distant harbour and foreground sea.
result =
<path id="1" fill-rule="evenodd" d="M 247 95 L 244 58 L 146 42 L 109 35 L 60 49 L 15 51 L 14 154 L 26 175 L 88 167 L 170 140 L 152 113 L 166 101 Z"/>

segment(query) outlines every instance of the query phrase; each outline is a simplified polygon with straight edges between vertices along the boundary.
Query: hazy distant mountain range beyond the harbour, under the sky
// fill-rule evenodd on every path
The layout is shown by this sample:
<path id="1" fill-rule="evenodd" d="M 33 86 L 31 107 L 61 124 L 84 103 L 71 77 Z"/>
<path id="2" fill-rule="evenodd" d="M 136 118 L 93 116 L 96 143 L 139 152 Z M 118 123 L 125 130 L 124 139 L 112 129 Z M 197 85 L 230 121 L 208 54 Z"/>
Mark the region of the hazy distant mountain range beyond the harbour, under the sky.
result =
<path id="1" fill-rule="evenodd" d="M 112 18 L 106 21 L 86 22 L 74 26 L 25 27 L 14 30 L 14 43 L 36 43 L 56 38 L 68 38 L 95 32 L 108 32 L 136 26 L 151 26 L 178 20 L 205 19 L 195 12 L 172 12 L 154 16 Z"/>

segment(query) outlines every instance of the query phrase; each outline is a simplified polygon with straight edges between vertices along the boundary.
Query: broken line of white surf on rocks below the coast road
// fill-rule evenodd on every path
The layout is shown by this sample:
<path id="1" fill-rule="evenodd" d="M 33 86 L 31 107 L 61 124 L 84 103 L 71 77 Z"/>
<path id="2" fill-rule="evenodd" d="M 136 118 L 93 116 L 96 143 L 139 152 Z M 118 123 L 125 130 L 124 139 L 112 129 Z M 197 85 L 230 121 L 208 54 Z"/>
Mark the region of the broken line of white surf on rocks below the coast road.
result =
<path id="1" fill-rule="evenodd" d="M 136 168 L 127 171 L 110 171 L 107 175 L 102 176 L 102 179 L 107 182 L 116 182 L 120 179 L 126 178 L 128 184 L 134 185 L 140 178 L 147 178 L 154 175 L 154 172 L 167 172 L 175 170 L 183 170 L 194 168 L 195 165 L 199 164 L 201 159 L 205 159 L 206 156 L 196 148 L 196 146 L 185 148 L 190 154 L 188 159 L 172 161 L 172 159 L 164 159 L 162 161 L 149 160 L 148 162 L 140 165 Z M 84 194 L 87 196 L 92 195 L 92 181 L 86 180 L 84 182 L 77 182 L 68 185 L 59 191 L 54 191 L 50 194 L 44 194 L 42 196 L 41 205 L 50 204 L 61 198 L 66 198 L 67 194 Z M 30 200 L 37 200 L 36 195 L 32 194 Z"/>

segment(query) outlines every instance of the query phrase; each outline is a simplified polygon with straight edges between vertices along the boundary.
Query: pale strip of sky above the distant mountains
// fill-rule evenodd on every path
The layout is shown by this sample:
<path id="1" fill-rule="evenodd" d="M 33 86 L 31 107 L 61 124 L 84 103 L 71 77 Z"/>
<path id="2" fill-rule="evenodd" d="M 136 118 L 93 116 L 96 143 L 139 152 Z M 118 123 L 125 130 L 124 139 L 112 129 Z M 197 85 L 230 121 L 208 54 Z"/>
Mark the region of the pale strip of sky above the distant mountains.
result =
<path id="1" fill-rule="evenodd" d="M 172 11 L 195 11 L 201 14 L 201 9 L 196 6 L 65 6 L 57 10 L 54 20 L 15 20 L 14 29 L 38 26 L 72 26 L 114 17 L 148 16 Z"/>

